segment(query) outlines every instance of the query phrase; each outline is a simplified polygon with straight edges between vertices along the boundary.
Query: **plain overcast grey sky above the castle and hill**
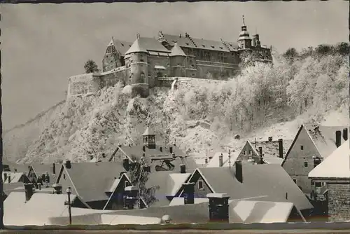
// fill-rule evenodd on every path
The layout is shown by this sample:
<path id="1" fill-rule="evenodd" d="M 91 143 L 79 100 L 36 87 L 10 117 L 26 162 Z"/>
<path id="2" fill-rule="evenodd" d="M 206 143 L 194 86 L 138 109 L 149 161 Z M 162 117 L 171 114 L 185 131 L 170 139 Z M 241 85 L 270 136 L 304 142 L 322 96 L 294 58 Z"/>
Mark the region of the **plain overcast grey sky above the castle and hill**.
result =
<path id="1" fill-rule="evenodd" d="M 67 78 L 88 59 L 101 67 L 111 36 L 184 34 L 237 41 L 248 31 L 279 52 L 349 38 L 348 1 L 1 4 L 3 129 L 64 99 Z"/>

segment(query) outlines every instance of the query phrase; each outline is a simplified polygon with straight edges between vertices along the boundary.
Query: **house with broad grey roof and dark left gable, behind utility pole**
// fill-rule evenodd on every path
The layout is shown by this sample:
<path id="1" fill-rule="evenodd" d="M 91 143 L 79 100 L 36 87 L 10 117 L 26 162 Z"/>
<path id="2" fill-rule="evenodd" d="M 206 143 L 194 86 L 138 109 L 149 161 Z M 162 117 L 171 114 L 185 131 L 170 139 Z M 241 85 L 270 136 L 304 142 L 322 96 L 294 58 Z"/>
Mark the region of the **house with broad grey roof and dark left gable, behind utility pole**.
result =
<path id="1" fill-rule="evenodd" d="M 122 163 L 71 163 L 62 165 L 56 184 L 64 193 L 69 186 L 76 195 L 73 207 L 103 209 L 121 173 L 126 172 Z"/>

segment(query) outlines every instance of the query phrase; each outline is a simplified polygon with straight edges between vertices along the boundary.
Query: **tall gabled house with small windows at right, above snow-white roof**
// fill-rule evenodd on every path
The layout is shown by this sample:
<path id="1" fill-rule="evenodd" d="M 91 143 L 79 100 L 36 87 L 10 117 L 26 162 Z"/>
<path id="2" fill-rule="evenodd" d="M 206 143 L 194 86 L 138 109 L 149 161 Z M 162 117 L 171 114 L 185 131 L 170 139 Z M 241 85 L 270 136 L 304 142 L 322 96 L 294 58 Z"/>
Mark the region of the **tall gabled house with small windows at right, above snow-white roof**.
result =
<path id="1" fill-rule="evenodd" d="M 301 125 L 297 135 L 283 159 L 282 167 L 302 191 L 313 200 L 314 193 L 321 195 L 326 186 L 323 182 L 309 179 L 309 172 L 323 158 L 337 149 L 348 138 L 348 127 L 307 126 Z M 337 133 L 336 133 L 337 132 Z"/>

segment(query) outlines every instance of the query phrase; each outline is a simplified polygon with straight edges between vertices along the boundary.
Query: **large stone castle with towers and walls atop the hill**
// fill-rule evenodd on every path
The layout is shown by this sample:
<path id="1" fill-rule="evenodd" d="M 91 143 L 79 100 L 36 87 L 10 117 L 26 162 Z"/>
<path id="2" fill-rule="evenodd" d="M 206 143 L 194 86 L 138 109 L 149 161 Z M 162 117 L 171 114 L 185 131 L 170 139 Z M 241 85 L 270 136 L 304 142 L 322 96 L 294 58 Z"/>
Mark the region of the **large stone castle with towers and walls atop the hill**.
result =
<path id="1" fill-rule="evenodd" d="M 175 78 L 223 80 L 237 74 L 245 60 L 272 62 L 271 48 L 250 37 L 244 23 L 237 43 L 158 33 L 137 34 L 134 43 L 112 37 L 102 60 L 102 72 L 69 78 L 68 96 L 97 92 L 118 82 L 132 86 L 132 97 L 148 97 L 150 88 L 171 86 Z"/>

